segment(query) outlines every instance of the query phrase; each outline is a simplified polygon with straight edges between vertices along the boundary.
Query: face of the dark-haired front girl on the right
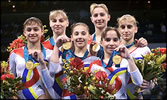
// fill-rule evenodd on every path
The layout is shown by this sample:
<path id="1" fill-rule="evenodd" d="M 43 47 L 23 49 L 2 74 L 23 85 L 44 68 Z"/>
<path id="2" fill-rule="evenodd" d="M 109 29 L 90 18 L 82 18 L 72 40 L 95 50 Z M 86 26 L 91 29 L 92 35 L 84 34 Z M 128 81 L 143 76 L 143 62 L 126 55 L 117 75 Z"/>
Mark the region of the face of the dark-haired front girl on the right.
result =
<path id="1" fill-rule="evenodd" d="M 107 32 L 106 37 L 101 41 L 104 52 L 111 55 L 112 51 L 120 45 L 120 39 L 114 30 Z"/>

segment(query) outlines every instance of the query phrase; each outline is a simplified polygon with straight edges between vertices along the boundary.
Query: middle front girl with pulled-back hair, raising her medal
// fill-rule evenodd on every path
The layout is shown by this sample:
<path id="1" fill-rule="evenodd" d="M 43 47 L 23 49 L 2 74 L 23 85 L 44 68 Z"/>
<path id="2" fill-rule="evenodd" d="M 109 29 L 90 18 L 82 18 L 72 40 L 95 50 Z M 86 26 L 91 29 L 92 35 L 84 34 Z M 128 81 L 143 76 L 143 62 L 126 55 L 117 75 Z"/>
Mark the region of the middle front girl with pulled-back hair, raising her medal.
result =
<path id="1" fill-rule="evenodd" d="M 64 50 L 62 52 L 62 56 L 58 57 L 58 52 L 55 53 L 55 55 L 57 56 L 57 63 L 61 63 L 62 61 L 60 59 L 65 59 L 68 60 L 70 58 L 74 58 L 74 57 L 78 57 L 80 58 L 83 62 L 84 62 L 84 68 L 88 69 L 89 64 L 94 61 L 97 60 L 98 57 L 90 57 L 90 53 L 88 50 L 88 39 L 90 37 L 89 35 L 89 27 L 85 24 L 85 23 L 74 23 L 71 26 L 71 41 L 74 42 L 74 49 L 68 49 L 68 50 Z M 59 37 L 57 38 L 56 41 L 56 46 L 54 47 L 55 50 L 58 51 L 58 48 L 62 47 L 63 48 L 63 43 L 65 43 L 66 41 L 68 41 L 66 38 Z M 72 42 L 70 42 L 72 44 Z M 65 74 L 64 74 L 65 75 Z M 75 94 L 70 93 L 66 87 L 64 87 L 65 89 L 62 91 L 62 96 L 63 99 L 76 99 Z"/>

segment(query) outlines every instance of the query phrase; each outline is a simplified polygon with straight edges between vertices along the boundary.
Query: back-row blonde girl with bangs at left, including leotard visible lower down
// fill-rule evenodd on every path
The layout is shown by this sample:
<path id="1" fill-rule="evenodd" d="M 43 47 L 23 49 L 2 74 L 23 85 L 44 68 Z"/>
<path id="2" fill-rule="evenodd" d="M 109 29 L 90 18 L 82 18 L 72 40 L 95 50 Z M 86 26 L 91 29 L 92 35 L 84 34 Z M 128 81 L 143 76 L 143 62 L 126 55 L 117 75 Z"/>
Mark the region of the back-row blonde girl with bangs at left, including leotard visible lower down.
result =
<path id="1" fill-rule="evenodd" d="M 50 50 L 54 49 L 56 40 L 59 37 L 66 37 L 66 28 L 69 25 L 69 20 L 67 17 L 67 14 L 63 10 L 52 10 L 49 14 L 49 24 L 53 32 L 53 36 L 43 42 L 43 45 L 45 48 L 48 48 Z M 59 48 L 59 56 L 61 56 L 62 51 Z M 59 58 L 59 57 L 58 57 Z M 55 68 L 56 70 L 56 68 Z M 56 71 L 54 69 L 49 70 L 51 76 L 55 79 L 53 89 L 55 90 L 56 94 L 61 98 L 62 97 L 62 83 L 61 79 L 63 76 L 62 71 L 56 74 Z"/>

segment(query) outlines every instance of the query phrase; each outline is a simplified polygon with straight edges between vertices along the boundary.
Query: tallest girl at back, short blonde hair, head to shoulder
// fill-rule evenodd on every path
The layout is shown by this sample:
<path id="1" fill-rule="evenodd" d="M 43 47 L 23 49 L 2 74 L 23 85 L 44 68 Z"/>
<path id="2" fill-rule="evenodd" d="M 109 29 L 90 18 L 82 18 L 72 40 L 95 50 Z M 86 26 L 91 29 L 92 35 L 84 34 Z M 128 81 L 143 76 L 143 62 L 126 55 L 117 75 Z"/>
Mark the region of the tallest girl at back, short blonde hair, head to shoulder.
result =
<path id="1" fill-rule="evenodd" d="M 91 21 L 95 26 L 95 32 L 92 34 L 90 41 L 100 43 L 101 34 L 104 32 L 110 20 L 110 14 L 105 4 L 93 3 L 90 6 Z"/>

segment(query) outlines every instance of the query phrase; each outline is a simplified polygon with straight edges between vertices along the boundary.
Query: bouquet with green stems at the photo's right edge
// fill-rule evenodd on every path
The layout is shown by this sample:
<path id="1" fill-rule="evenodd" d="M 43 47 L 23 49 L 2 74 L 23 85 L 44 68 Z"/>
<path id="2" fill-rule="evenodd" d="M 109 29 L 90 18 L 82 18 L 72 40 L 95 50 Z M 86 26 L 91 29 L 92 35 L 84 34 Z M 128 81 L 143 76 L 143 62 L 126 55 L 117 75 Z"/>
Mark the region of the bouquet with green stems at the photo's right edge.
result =
<path id="1" fill-rule="evenodd" d="M 166 48 L 156 48 L 151 51 L 143 56 L 144 59 L 134 59 L 143 78 L 147 81 L 160 78 L 166 69 Z"/>

